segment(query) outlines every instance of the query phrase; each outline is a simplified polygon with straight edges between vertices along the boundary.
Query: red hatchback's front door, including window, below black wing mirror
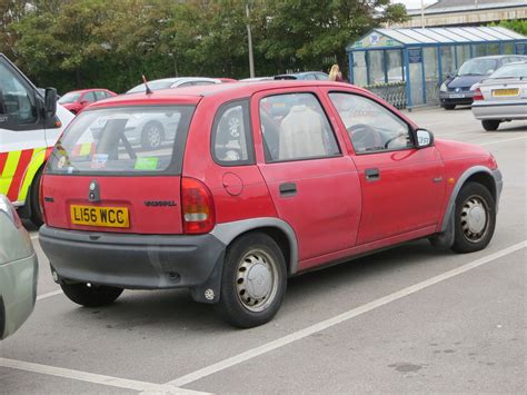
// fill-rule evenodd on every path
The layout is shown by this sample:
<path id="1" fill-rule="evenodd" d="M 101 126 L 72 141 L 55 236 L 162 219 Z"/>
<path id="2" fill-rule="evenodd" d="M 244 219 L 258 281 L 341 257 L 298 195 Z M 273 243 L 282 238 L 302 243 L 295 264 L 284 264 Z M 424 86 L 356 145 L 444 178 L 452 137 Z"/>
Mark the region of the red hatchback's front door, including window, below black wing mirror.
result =
<path id="1" fill-rule="evenodd" d="M 434 233 L 446 187 L 439 151 L 417 149 L 411 126 L 372 98 L 351 92 L 329 98 L 354 147 L 362 189 L 357 244 Z"/>

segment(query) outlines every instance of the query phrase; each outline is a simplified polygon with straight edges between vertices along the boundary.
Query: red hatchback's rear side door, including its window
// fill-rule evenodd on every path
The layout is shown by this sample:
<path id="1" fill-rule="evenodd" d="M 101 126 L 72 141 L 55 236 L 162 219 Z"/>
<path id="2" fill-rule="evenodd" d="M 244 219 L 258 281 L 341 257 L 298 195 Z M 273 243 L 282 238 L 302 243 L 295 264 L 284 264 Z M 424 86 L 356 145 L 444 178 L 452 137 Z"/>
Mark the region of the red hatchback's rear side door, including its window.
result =
<path id="1" fill-rule="evenodd" d="M 317 92 L 258 93 L 251 117 L 258 166 L 278 217 L 297 236 L 299 269 L 355 246 L 360 182 Z"/>

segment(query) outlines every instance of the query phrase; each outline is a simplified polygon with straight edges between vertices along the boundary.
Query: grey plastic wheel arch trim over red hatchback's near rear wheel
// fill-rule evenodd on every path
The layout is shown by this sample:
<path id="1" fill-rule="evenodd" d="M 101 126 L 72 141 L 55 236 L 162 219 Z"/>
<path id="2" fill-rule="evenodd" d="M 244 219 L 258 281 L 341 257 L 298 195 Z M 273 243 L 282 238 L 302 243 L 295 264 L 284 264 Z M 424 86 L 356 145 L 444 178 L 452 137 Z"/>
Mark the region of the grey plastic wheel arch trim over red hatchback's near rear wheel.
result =
<path id="1" fill-rule="evenodd" d="M 226 246 L 248 233 L 260 231 L 271 237 L 280 247 L 286 259 L 289 276 L 298 271 L 298 243 L 295 231 L 286 221 L 278 218 L 251 218 L 219 224 L 212 235 Z"/>

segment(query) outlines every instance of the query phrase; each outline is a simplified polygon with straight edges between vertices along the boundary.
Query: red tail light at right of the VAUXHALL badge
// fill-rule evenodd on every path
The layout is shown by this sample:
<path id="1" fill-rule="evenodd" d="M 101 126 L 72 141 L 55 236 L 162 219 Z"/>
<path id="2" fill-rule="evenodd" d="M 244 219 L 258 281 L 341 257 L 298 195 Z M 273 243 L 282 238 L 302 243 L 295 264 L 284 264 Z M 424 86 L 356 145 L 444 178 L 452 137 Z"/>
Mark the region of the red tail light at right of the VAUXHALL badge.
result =
<path id="1" fill-rule="evenodd" d="M 206 234 L 216 225 L 215 203 L 207 186 L 195 179 L 181 179 L 181 215 L 186 234 Z"/>

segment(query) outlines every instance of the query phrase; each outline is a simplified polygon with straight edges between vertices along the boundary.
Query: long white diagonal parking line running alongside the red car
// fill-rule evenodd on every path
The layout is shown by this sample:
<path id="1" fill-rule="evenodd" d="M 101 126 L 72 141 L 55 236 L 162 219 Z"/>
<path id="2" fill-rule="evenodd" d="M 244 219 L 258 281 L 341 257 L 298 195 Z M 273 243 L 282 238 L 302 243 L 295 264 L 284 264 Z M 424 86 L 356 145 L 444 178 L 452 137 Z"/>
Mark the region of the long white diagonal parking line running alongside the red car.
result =
<path id="1" fill-rule="evenodd" d="M 349 312 L 346 312 L 346 313 L 342 313 L 338 316 L 335 316 L 332 318 L 329 318 L 329 319 L 326 319 L 326 320 L 322 320 L 318 324 L 315 324 L 315 325 L 311 325 L 307 328 L 304 328 L 304 329 L 300 329 L 298 332 L 295 332 L 290 335 L 287 335 L 287 336 L 284 336 L 284 337 L 280 337 L 276 340 L 272 340 L 272 342 L 269 342 L 269 343 L 266 343 L 259 347 L 256 347 L 256 348 L 252 348 L 252 349 L 249 349 L 245 353 L 241 353 L 241 354 L 238 354 L 238 355 L 235 355 L 230 358 L 227 358 L 227 359 L 223 359 L 223 361 L 220 361 L 216 364 L 212 364 L 210 366 L 207 366 L 207 367 L 203 367 L 201 369 L 198 369 L 196 372 L 192 372 L 192 373 L 189 373 L 185 376 L 181 376 L 179 378 L 176 378 L 171 382 L 168 382 L 167 385 L 173 385 L 176 387 L 180 387 L 180 386 L 183 386 L 183 385 L 187 385 L 189 383 L 193 383 L 198 379 L 201 379 L 203 377 L 207 377 L 207 376 L 210 376 L 215 373 L 218 373 L 220 371 L 225 371 L 229 367 L 232 367 L 235 365 L 238 365 L 238 364 L 241 364 L 246 361 L 249 361 L 249 359 L 252 359 L 252 358 L 256 358 L 257 356 L 260 356 L 262 354 L 266 354 L 266 353 L 269 353 L 274 349 L 277 349 L 277 348 L 280 348 L 280 347 L 284 347 L 288 344 L 291 344 L 294 342 L 297 342 L 297 340 L 300 340 L 302 338 L 306 338 L 315 333 L 318 333 L 318 332 L 321 332 L 321 330 L 325 330 L 327 328 L 330 328 L 335 325 L 338 325 L 338 324 L 341 324 L 348 319 L 351 319 L 354 317 L 357 317 L 361 314 L 365 314 L 365 313 L 368 313 L 368 312 L 371 312 L 378 307 L 381 307 L 381 306 L 385 306 L 391 302 L 395 302 L 397 299 L 400 299 L 400 298 L 404 298 L 408 295 L 411 295 L 411 294 L 415 294 L 421 289 L 425 289 L 425 288 L 428 288 L 435 284 L 438 284 L 440 282 L 444 282 L 446 279 L 449 279 L 449 278 L 453 278 L 455 276 L 458 276 L 463 273 L 466 273 L 468 270 L 471 270 L 478 266 L 481 266 L 481 265 L 485 265 L 485 264 L 488 264 L 489 261 L 493 261 L 495 259 L 498 259 L 498 258 L 501 258 L 508 254 L 513 254 L 521 248 L 525 248 L 527 247 L 527 240 L 524 240 L 521 243 L 518 243 L 518 244 L 515 244 L 514 246 L 510 246 L 508 248 L 505 248 L 505 249 L 501 249 L 497 253 L 494 253 L 494 254 L 490 254 L 486 257 L 483 257 L 483 258 L 479 258 L 479 259 L 476 259 L 476 260 L 473 260 L 471 263 L 468 263 L 466 265 L 463 265 L 456 269 L 453 269 L 453 270 L 448 270 L 446 273 L 443 273 L 438 276 L 435 276 L 435 277 L 431 277 L 427 280 L 424 280 L 421 283 L 418 283 L 418 284 L 415 284 L 412 286 L 409 286 L 407 288 L 404 288 L 401 290 L 398 290 L 396 293 L 392 293 L 388 296 L 385 296 L 385 297 L 381 297 L 377 300 L 374 300 L 374 302 L 370 302 L 370 303 L 367 303 L 366 305 L 362 305 L 362 306 L 359 306 L 359 307 L 356 307 Z"/>

